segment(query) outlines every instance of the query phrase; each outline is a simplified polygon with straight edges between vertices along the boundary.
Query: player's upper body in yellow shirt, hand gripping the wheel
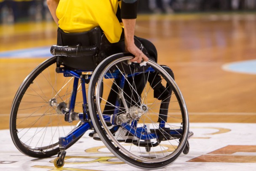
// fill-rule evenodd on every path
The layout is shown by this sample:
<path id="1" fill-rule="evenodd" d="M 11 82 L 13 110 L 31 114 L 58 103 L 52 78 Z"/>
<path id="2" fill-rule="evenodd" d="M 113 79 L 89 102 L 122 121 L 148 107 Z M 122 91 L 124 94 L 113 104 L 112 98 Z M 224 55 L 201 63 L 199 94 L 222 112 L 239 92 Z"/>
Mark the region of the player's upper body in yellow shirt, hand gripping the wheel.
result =
<path id="1" fill-rule="evenodd" d="M 125 49 L 135 56 L 131 62 L 148 61 L 134 44 L 138 0 L 47 0 L 47 4 L 54 21 L 64 32 L 84 32 L 100 26 L 109 42 L 115 43 L 124 30 Z M 149 41 L 141 43 L 146 49 L 147 44 L 152 47 Z M 156 50 L 154 53 L 156 56 Z"/>

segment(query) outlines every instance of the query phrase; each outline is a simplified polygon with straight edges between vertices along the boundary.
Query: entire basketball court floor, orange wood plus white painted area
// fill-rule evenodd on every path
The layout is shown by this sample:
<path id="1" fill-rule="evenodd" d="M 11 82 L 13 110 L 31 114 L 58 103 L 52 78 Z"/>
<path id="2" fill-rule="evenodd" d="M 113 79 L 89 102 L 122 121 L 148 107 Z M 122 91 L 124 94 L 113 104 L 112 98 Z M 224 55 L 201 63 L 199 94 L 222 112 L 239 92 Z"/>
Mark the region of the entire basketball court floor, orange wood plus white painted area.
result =
<path id="1" fill-rule="evenodd" d="M 139 171 L 87 132 L 67 150 L 64 168 L 13 145 L 11 104 L 19 85 L 51 57 L 52 22 L 0 26 L 0 170 Z M 175 74 L 189 111 L 190 150 L 160 170 L 254 171 L 256 168 L 256 13 L 140 15 L 136 35 L 152 41 L 158 63 Z"/>

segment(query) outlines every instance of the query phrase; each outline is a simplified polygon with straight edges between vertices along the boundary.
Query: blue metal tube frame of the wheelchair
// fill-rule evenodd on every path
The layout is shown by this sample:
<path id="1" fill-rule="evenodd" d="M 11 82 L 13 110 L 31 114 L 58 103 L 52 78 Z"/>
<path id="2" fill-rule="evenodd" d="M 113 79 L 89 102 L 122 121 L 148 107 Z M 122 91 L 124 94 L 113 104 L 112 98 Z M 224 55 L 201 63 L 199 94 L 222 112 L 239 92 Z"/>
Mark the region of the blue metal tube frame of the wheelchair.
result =
<path id="1" fill-rule="evenodd" d="M 152 67 L 149 67 L 147 70 L 144 72 L 153 72 L 155 71 Z M 92 129 L 93 130 L 93 124 L 91 122 L 91 119 L 89 118 L 88 115 L 88 102 L 87 102 L 87 96 L 86 96 L 86 91 L 85 91 L 85 83 L 87 82 L 86 80 L 91 79 L 92 74 L 82 74 L 83 72 L 90 72 L 90 71 L 84 71 L 84 70 L 69 70 L 64 67 L 59 67 L 58 73 L 63 73 L 64 77 L 74 77 L 74 83 L 73 83 L 73 90 L 72 90 L 72 95 L 69 101 L 69 111 L 67 112 L 67 122 L 72 122 L 70 116 L 72 112 L 74 112 L 75 108 L 75 100 L 77 96 L 77 87 L 79 84 L 79 79 L 81 80 L 81 88 L 82 88 L 82 94 L 83 94 L 83 113 L 78 113 L 78 117 L 80 121 L 83 122 L 80 126 L 78 126 L 75 130 L 70 132 L 66 137 L 59 137 L 59 148 L 63 152 L 65 148 L 73 142 L 76 138 L 82 136 L 87 130 Z M 140 73 L 135 73 L 135 74 L 128 74 L 128 77 L 132 77 L 134 75 L 137 75 Z M 120 71 L 115 71 L 114 73 L 107 73 L 105 78 L 120 78 L 120 88 L 123 88 L 125 85 L 125 76 L 123 74 L 120 74 Z M 114 111 L 113 116 L 117 115 L 118 107 L 120 106 L 120 102 L 116 100 L 116 109 Z M 104 115 L 103 117 L 106 122 L 111 122 L 109 115 Z M 114 118 L 114 117 L 112 117 Z M 111 122 L 114 123 L 114 122 Z M 115 125 L 115 124 L 113 124 Z M 131 124 L 123 123 L 121 126 L 129 131 L 132 135 L 135 137 L 139 138 L 140 140 L 150 140 L 153 138 L 159 138 L 159 135 L 157 135 L 155 132 L 147 132 L 147 126 L 144 125 L 143 127 L 137 127 L 137 121 L 133 120 Z M 159 124 L 159 128 L 164 128 L 165 127 L 165 121 L 161 121 Z M 176 129 L 176 130 L 168 130 L 169 135 L 175 135 L 179 136 L 182 134 L 182 129 Z"/>

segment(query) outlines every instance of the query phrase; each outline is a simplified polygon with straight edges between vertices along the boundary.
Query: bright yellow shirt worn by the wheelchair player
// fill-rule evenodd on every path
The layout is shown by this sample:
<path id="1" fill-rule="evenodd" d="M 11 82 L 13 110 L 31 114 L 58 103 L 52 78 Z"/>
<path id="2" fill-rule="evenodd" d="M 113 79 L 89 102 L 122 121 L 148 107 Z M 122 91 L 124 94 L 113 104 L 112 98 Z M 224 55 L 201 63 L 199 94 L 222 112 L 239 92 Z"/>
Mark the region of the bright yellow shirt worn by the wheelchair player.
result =
<path id="1" fill-rule="evenodd" d="M 100 26 L 109 42 L 115 43 L 122 34 L 117 8 L 118 0 L 60 0 L 56 15 L 65 32 L 84 32 Z"/>

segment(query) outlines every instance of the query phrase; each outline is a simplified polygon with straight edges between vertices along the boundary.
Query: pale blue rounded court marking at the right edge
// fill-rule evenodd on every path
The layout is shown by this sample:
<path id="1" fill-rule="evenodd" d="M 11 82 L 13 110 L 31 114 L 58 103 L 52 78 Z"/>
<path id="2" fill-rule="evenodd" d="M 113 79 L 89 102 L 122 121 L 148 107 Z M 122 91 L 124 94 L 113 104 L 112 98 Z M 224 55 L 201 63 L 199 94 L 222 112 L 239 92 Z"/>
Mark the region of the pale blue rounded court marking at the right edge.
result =
<path id="1" fill-rule="evenodd" d="M 222 66 L 223 70 L 235 73 L 255 74 L 256 75 L 256 60 L 246 60 L 240 62 L 232 62 Z"/>

